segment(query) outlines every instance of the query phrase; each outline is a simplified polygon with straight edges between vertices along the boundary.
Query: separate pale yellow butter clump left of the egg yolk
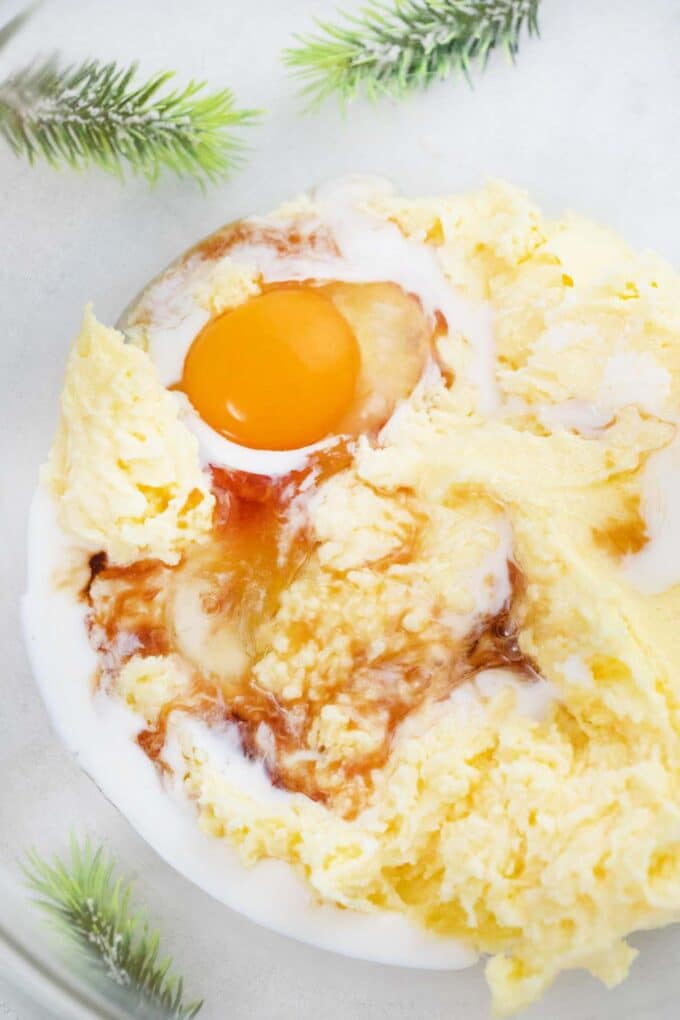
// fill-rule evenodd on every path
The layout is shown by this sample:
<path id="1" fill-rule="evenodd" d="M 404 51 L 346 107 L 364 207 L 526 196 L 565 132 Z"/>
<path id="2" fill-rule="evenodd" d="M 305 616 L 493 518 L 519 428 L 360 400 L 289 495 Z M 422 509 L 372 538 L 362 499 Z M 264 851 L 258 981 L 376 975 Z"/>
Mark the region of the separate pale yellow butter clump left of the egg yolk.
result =
<path id="1" fill-rule="evenodd" d="M 176 563 L 212 525 L 209 478 L 171 394 L 148 355 L 90 308 L 43 476 L 62 526 L 113 563 Z"/>

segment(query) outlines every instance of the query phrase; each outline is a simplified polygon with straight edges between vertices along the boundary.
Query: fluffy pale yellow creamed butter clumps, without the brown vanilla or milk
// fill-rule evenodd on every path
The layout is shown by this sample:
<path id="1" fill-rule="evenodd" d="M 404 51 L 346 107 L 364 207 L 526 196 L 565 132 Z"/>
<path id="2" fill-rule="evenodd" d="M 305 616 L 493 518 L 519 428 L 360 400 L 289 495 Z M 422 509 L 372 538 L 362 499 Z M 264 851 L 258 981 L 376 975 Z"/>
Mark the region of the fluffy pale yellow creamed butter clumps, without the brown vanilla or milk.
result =
<path id="1" fill-rule="evenodd" d="M 260 801 L 189 738 L 185 785 L 201 826 L 245 860 L 289 861 L 325 900 L 399 911 L 490 954 L 507 1013 L 564 969 L 618 982 L 635 955 L 625 936 L 680 917 L 680 568 L 671 583 L 635 580 L 657 541 L 646 471 L 680 418 L 680 280 L 591 223 L 546 222 L 502 184 L 366 208 L 487 303 L 499 409 L 477 411 L 470 344 L 449 323 L 453 386 L 420 387 L 304 509 L 314 555 L 263 623 L 254 672 L 283 705 L 324 702 L 306 751 L 328 802 Z M 253 293 L 234 278 L 227 259 L 204 302 Z M 210 526 L 207 475 L 166 397 L 143 351 L 86 318 L 48 476 L 64 526 L 114 561 L 175 562 Z M 667 566 L 674 555 L 677 544 Z M 328 702 L 352 643 L 369 665 L 409 649 L 436 663 L 508 597 L 507 557 L 524 577 L 519 643 L 546 710 L 521 711 L 512 684 L 425 703 L 348 812 L 335 764 L 386 725 L 379 701 L 353 708 L 376 671 Z M 117 691 L 153 721 L 187 675 L 172 657 L 133 658 Z"/>

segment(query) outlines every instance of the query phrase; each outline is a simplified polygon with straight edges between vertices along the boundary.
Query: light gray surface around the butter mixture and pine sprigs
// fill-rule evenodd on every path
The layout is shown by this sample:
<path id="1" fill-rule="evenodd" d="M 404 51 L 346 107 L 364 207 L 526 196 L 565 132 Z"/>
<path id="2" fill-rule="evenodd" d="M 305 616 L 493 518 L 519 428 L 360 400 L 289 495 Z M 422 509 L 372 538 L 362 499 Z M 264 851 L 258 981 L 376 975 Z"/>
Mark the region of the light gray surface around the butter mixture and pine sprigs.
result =
<path id="1" fill-rule="evenodd" d="M 15 7 L 0 0 L 0 19 Z M 680 263 L 674 0 L 543 0 L 542 38 L 524 40 L 515 68 L 492 59 L 473 92 L 450 82 L 402 104 L 358 103 L 342 116 L 328 103 L 303 117 L 278 52 L 313 13 L 333 8 L 321 0 L 52 0 L 0 54 L 0 74 L 53 49 L 139 58 L 145 69 L 229 85 L 243 105 L 268 111 L 250 133 L 248 166 L 206 195 L 169 178 L 150 192 L 99 172 L 31 169 L 0 145 L 0 864 L 15 869 L 31 844 L 61 848 L 75 822 L 105 837 L 138 875 L 191 989 L 209 996 L 205 1020 L 481 1020 L 479 969 L 419 973 L 317 952 L 256 928 L 170 872 L 51 734 L 18 630 L 27 507 L 83 305 L 92 299 L 102 319 L 115 319 L 145 280 L 220 222 L 350 170 L 393 176 L 409 194 L 503 176 L 552 214 L 574 208 Z M 680 935 L 636 941 L 644 952 L 623 987 L 608 994 L 569 975 L 527 1016 L 676 1017 Z M 0 989 L 0 1017 L 44 1015 Z"/>

